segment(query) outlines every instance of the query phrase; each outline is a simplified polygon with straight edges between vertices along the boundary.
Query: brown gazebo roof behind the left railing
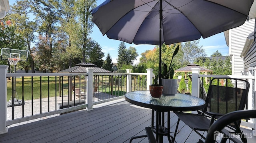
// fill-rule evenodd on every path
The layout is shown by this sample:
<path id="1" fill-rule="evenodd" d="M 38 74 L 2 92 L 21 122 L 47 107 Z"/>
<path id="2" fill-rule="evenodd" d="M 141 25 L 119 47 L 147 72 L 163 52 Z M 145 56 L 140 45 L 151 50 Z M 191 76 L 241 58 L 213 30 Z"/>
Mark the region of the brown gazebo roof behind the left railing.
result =
<path id="1" fill-rule="evenodd" d="M 64 69 L 62 71 L 59 71 L 58 73 L 85 73 L 86 68 L 93 68 L 94 73 L 111 72 L 111 71 L 102 69 L 100 67 L 97 67 L 97 65 L 94 65 L 92 63 L 79 63 L 79 64 L 76 64 L 76 66 L 74 67 L 71 67 L 69 69 Z"/>

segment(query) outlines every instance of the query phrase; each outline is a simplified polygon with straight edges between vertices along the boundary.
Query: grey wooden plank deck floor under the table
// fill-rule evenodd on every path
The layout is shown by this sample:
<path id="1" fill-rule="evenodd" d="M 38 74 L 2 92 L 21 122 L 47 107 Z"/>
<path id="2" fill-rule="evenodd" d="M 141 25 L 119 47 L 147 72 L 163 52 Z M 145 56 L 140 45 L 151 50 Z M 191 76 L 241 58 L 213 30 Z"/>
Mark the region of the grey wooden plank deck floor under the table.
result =
<path id="1" fill-rule="evenodd" d="M 151 112 L 120 99 L 98 104 L 89 112 L 80 110 L 10 127 L 8 133 L 0 135 L 0 143 L 129 143 L 131 137 L 146 134 L 144 128 L 151 125 Z M 177 116 L 171 113 L 171 132 L 174 132 L 176 121 Z M 182 122 L 179 130 L 177 143 L 196 143 L 200 139 Z M 133 141 L 139 142 L 148 143 L 148 139 Z M 168 142 L 166 137 L 164 142 Z M 255 142 L 256 137 L 248 139 L 248 143 Z"/>

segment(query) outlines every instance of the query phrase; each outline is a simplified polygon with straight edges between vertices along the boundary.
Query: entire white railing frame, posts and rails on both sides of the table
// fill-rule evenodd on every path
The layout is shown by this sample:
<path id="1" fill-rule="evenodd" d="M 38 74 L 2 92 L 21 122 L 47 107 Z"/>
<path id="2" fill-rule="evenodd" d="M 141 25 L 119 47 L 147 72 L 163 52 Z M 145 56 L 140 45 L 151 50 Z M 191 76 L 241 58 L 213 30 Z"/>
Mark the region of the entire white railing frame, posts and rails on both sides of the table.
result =
<path id="1" fill-rule="evenodd" d="M 8 74 L 7 73 L 7 68 L 8 66 L 5 65 L 0 65 L 0 134 L 2 133 L 6 133 L 8 131 L 8 128 L 6 127 L 7 125 L 10 125 L 12 123 L 17 123 L 20 121 L 26 121 L 26 120 L 30 120 L 30 119 L 35 119 L 35 118 L 41 118 L 44 116 L 49 116 L 49 115 L 53 115 L 53 114 L 60 114 L 63 112 L 67 112 L 70 110 L 70 108 L 68 109 L 61 109 L 61 110 L 56 110 L 56 111 L 51 111 L 48 113 L 45 113 L 44 115 L 39 114 L 33 117 L 27 117 L 27 118 L 22 118 L 19 119 L 20 121 L 7 121 L 7 80 L 6 77 L 9 76 L 75 76 L 75 75 L 83 75 L 83 76 L 87 76 L 86 78 L 86 110 L 90 111 L 93 110 L 93 105 L 94 104 L 98 104 L 98 103 L 102 103 L 102 102 L 107 102 L 108 100 L 105 101 L 101 101 L 101 102 L 93 102 L 92 98 L 93 98 L 93 76 L 94 75 L 118 75 L 118 74 L 125 74 L 127 76 L 127 80 L 126 80 L 126 92 L 130 92 L 132 91 L 132 75 L 146 75 L 146 89 L 149 89 L 149 85 L 152 84 L 152 77 L 153 77 L 153 69 L 147 69 L 147 73 L 132 73 L 131 69 L 127 69 L 126 73 L 93 73 L 92 70 L 93 69 L 88 69 L 87 73 L 68 73 L 68 74 L 58 74 L 58 73 L 53 73 L 53 74 Z M 256 72 L 256 69 L 254 69 L 254 72 Z M 214 77 L 231 77 L 231 78 L 242 78 L 242 79 L 247 79 L 250 82 L 250 90 L 249 90 L 249 95 L 248 95 L 248 109 L 255 109 L 255 94 L 254 94 L 254 89 L 255 89 L 255 73 L 254 75 L 248 75 L 248 76 L 232 76 L 232 75 L 203 75 L 203 74 L 199 74 L 200 71 L 198 68 L 193 68 L 192 69 L 192 96 L 199 96 L 199 80 L 200 78 L 214 78 Z M 72 107 L 72 108 L 76 108 L 76 107 Z M 8 122 L 8 123 L 7 123 Z M 255 121 L 252 120 L 252 122 L 243 122 L 242 125 L 245 125 L 247 127 L 251 127 L 251 128 L 256 128 L 255 125 Z"/>

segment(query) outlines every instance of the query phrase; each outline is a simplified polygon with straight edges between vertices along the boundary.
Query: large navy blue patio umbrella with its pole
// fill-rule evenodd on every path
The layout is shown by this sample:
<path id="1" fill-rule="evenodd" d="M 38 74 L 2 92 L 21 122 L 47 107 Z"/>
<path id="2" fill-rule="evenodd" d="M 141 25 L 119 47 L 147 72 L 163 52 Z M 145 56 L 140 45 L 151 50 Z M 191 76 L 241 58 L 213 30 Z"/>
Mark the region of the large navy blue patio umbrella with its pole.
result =
<path id="1" fill-rule="evenodd" d="M 192 41 L 238 27 L 254 0 L 106 0 L 92 10 L 103 35 L 134 44 Z M 159 76 L 160 79 L 161 75 Z M 161 79 L 159 80 L 162 84 Z"/>

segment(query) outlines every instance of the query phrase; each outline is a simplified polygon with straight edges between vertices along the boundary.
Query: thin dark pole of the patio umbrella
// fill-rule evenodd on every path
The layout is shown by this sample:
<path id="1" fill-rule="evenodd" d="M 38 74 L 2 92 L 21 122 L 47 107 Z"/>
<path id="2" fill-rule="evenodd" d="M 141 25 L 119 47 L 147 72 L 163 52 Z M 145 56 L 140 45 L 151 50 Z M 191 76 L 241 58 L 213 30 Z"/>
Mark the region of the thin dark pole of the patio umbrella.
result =
<path id="1" fill-rule="evenodd" d="M 162 14 L 163 14 L 163 8 L 162 8 L 162 0 L 160 0 L 160 11 L 159 11 L 159 84 L 162 85 Z"/>

